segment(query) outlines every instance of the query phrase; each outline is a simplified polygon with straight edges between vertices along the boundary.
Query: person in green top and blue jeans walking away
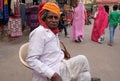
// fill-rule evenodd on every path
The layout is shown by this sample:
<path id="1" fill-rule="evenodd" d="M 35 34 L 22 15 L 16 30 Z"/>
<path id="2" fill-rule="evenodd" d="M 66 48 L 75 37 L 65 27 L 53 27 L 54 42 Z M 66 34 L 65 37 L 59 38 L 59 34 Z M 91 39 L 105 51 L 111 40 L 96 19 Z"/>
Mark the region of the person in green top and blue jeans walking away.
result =
<path id="1" fill-rule="evenodd" d="M 113 11 L 110 12 L 109 15 L 109 31 L 110 31 L 110 39 L 108 43 L 109 46 L 113 46 L 115 29 L 117 28 L 118 23 L 120 23 L 120 12 L 118 11 L 118 5 L 114 5 Z"/>

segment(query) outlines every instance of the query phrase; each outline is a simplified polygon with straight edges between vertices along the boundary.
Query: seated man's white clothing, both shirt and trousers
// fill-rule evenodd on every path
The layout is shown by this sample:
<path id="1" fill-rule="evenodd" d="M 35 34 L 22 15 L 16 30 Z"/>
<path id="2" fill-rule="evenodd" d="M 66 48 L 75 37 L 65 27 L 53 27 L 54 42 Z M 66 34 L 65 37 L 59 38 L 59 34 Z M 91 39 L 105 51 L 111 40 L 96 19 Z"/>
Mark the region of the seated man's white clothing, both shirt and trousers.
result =
<path id="1" fill-rule="evenodd" d="M 50 81 L 57 72 L 63 81 L 90 81 L 87 58 L 78 55 L 64 60 L 58 35 L 39 26 L 30 34 L 27 62 L 33 69 L 33 81 Z"/>

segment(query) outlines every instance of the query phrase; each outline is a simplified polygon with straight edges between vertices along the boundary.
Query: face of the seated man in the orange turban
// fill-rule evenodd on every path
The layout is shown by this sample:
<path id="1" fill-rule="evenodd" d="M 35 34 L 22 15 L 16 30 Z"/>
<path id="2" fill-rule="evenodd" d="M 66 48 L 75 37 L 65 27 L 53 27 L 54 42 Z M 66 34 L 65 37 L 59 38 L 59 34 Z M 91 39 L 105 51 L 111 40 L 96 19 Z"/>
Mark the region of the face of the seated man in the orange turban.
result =
<path id="1" fill-rule="evenodd" d="M 55 13 L 48 12 L 45 23 L 50 29 L 55 29 L 59 24 L 59 18 Z"/>

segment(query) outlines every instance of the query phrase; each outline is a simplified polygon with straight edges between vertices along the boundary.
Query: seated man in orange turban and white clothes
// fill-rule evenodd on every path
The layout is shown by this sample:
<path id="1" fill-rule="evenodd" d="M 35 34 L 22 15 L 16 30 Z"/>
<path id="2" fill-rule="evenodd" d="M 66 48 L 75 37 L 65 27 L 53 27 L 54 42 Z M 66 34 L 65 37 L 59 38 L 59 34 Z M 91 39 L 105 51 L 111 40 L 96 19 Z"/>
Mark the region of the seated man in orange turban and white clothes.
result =
<path id="1" fill-rule="evenodd" d="M 53 2 L 47 2 L 39 11 L 38 18 L 40 26 L 30 33 L 26 58 L 33 70 L 33 81 L 91 81 L 86 56 L 65 59 L 60 48 L 57 27 L 60 8 Z"/>

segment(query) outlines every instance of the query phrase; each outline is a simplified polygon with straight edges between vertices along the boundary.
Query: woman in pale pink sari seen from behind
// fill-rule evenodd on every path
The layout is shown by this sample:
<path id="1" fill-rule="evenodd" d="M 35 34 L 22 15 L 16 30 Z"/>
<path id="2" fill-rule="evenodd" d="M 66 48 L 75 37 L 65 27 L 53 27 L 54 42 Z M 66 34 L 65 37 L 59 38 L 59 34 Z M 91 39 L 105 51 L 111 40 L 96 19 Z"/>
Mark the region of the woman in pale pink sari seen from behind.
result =
<path id="1" fill-rule="evenodd" d="M 71 27 L 71 38 L 75 42 L 82 42 L 84 38 L 85 13 L 84 4 L 79 2 L 74 9 L 73 22 Z"/>

